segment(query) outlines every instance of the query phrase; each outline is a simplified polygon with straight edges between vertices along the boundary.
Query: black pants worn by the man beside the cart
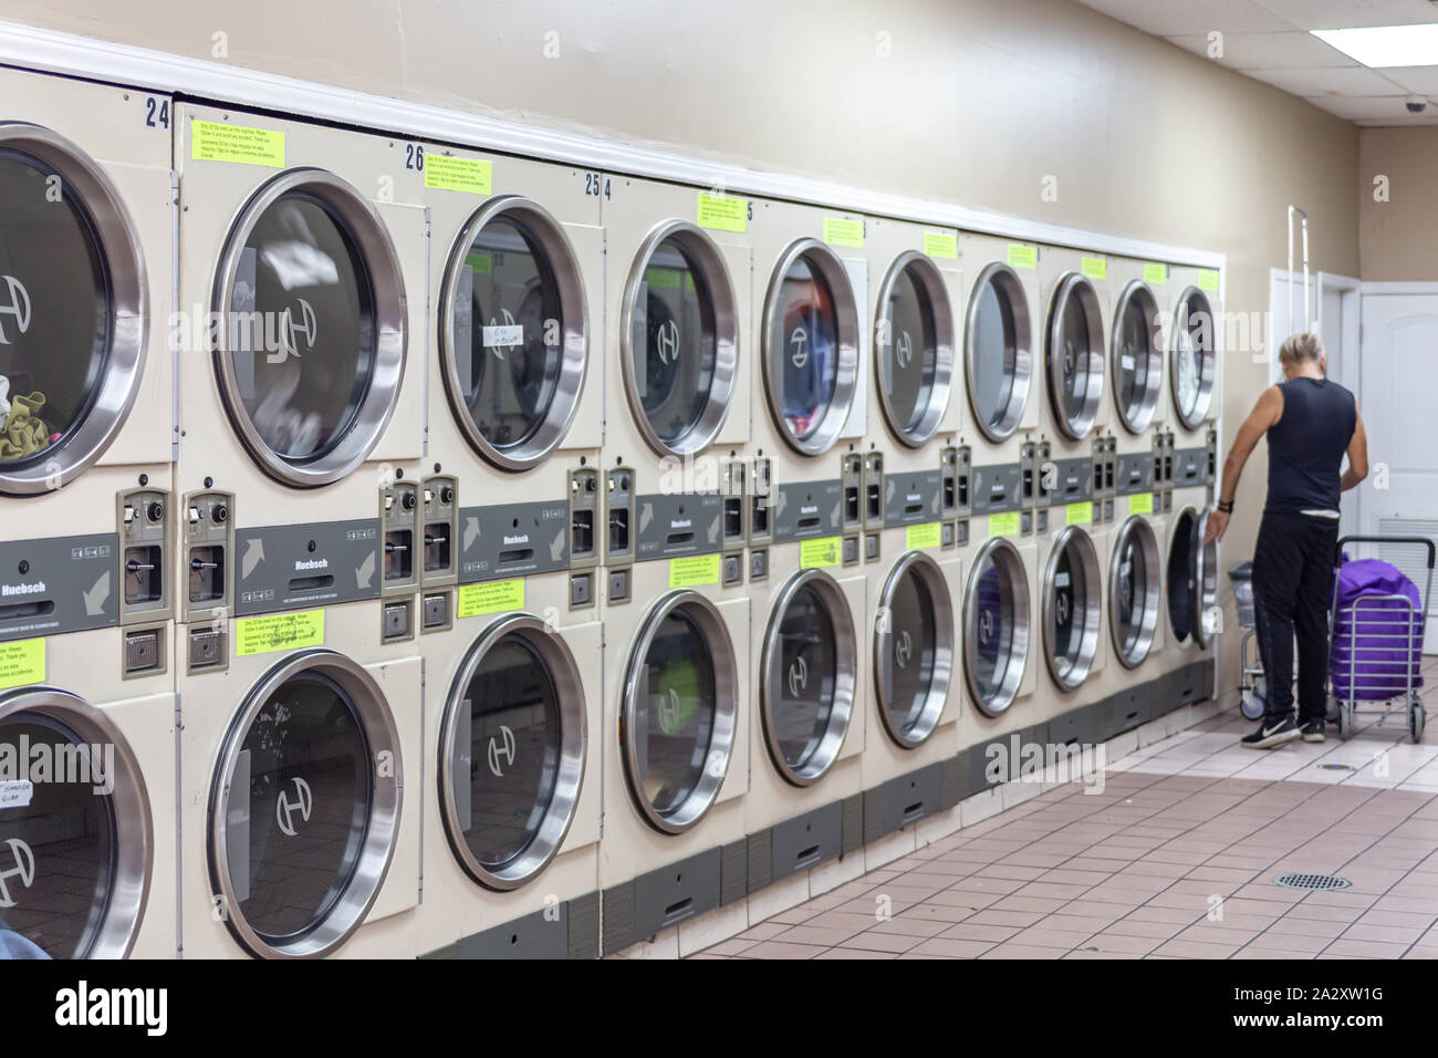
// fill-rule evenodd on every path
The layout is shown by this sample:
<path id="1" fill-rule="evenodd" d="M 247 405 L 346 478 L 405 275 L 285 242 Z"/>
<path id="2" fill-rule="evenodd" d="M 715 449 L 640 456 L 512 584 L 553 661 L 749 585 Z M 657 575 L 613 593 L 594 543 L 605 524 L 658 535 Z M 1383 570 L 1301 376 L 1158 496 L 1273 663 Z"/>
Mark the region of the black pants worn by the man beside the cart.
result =
<path id="1" fill-rule="evenodd" d="M 1293 636 L 1299 635 L 1299 724 L 1326 715 L 1329 607 L 1337 518 L 1265 511 L 1254 548 L 1258 656 L 1268 682 L 1264 723 L 1293 715 Z"/>

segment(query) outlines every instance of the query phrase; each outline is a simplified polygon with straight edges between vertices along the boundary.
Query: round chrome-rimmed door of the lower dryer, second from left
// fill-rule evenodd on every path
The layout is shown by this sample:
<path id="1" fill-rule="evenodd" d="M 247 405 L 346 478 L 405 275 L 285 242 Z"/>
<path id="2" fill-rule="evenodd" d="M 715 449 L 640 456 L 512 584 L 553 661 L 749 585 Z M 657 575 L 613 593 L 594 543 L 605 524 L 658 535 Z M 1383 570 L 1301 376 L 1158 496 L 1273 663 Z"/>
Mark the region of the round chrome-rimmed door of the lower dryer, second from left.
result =
<path id="1" fill-rule="evenodd" d="M 301 651 L 250 689 L 210 789 L 217 911 L 263 957 L 325 956 L 360 928 L 394 854 L 398 733 L 374 678 Z"/>

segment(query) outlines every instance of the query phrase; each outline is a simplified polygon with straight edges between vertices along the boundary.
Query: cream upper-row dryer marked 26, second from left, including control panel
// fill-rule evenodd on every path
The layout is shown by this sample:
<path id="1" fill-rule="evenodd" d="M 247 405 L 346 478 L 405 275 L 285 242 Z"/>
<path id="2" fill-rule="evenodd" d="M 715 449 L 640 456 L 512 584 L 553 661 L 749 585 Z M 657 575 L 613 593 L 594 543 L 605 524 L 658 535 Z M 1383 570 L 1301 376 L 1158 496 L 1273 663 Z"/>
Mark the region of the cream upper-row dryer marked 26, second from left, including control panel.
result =
<path id="1" fill-rule="evenodd" d="M 175 107 L 190 672 L 224 668 L 230 616 L 384 599 L 384 638 L 414 636 L 429 245 L 404 147 Z"/>

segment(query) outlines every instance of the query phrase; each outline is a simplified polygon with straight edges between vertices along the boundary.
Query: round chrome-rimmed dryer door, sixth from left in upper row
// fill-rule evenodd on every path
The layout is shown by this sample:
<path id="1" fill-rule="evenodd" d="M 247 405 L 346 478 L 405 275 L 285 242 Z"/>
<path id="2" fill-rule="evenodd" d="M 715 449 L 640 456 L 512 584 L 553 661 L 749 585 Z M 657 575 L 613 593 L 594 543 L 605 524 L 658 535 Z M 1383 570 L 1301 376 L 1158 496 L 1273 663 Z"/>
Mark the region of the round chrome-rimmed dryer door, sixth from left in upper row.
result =
<path id="1" fill-rule="evenodd" d="M 910 252 L 890 266 L 874 330 L 884 419 L 902 442 L 922 445 L 939 428 L 953 374 L 949 295 L 929 258 Z"/>

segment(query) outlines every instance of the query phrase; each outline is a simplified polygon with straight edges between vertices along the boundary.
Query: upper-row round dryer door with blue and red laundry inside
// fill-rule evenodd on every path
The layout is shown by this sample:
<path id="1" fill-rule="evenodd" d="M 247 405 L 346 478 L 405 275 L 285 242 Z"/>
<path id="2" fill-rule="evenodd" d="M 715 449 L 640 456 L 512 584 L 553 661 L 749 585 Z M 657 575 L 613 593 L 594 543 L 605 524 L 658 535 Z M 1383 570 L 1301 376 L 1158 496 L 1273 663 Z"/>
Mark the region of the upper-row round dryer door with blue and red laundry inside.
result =
<path id="1" fill-rule="evenodd" d="M 817 455 L 848 419 L 858 364 L 857 309 L 843 262 L 805 239 L 769 284 L 764 358 L 769 406 L 792 448 Z"/>

